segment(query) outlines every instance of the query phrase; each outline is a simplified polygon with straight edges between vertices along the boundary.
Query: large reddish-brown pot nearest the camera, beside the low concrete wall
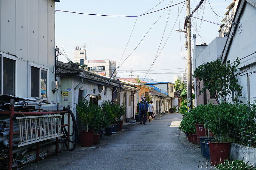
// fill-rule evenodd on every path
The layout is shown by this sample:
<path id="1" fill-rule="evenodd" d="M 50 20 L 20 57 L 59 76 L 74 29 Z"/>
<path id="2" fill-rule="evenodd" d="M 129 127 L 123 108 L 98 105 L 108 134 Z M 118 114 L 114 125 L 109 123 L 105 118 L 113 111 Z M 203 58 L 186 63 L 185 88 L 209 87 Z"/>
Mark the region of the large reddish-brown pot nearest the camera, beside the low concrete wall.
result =
<path id="1" fill-rule="evenodd" d="M 224 163 L 225 159 L 230 159 L 231 142 L 209 142 L 210 160 L 212 166 Z"/>

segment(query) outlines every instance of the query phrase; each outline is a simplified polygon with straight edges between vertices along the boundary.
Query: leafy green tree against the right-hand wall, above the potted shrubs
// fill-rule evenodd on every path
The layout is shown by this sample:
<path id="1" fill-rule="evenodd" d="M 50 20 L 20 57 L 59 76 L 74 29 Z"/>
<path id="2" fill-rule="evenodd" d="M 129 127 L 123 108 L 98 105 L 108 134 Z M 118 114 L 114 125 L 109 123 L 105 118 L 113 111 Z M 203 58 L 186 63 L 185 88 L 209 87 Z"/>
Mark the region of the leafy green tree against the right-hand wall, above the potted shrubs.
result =
<path id="1" fill-rule="evenodd" d="M 238 97 L 242 96 L 242 87 L 238 85 L 236 71 L 238 62 L 231 66 L 230 61 L 222 64 L 221 60 L 204 63 L 194 71 L 193 77 L 204 81 L 204 87 L 200 92 L 209 89 L 211 95 L 214 95 L 218 104 L 221 96 L 224 102 L 229 100 L 232 91 L 235 92 L 234 101 L 238 101 Z"/>

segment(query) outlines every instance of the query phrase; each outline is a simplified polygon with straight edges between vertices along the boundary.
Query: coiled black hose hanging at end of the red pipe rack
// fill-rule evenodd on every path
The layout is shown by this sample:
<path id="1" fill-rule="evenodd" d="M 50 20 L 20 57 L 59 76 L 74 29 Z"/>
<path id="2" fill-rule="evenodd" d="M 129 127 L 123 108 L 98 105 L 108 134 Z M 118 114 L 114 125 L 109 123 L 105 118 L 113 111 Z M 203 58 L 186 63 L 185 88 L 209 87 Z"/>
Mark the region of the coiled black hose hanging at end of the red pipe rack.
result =
<path id="1" fill-rule="evenodd" d="M 71 149 L 69 149 L 70 151 L 74 151 L 75 150 L 75 148 L 76 148 L 76 144 L 77 144 L 77 139 L 78 139 L 78 127 L 77 127 L 77 124 L 76 124 L 76 118 L 75 118 L 75 115 L 73 114 L 73 112 L 69 109 L 69 108 L 67 108 L 67 107 L 65 107 L 64 109 L 63 109 L 63 111 L 68 111 L 68 114 L 70 114 L 71 115 L 71 118 L 72 118 L 72 124 L 73 124 L 73 130 L 72 130 L 72 133 L 69 135 L 69 137 L 72 137 L 72 136 L 74 136 L 74 140 L 69 140 L 69 142 L 71 142 L 71 143 L 74 143 L 74 147 L 73 148 L 71 148 Z M 61 124 L 65 124 L 64 123 L 64 115 L 65 115 L 65 113 L 63 113 L 62 114 L 62 118 L 61 118 Z M 67 129 L 65 128 L 65 127 L 62 127 L 62 131 L 64 132 L 64 138 L 68 138 L 68 131 L 67 131 Z M 64 142 L 64 144 L 66 145 L 66 147 L 68 148 L 68 144 L 67 144 L 67 142 Z"/>

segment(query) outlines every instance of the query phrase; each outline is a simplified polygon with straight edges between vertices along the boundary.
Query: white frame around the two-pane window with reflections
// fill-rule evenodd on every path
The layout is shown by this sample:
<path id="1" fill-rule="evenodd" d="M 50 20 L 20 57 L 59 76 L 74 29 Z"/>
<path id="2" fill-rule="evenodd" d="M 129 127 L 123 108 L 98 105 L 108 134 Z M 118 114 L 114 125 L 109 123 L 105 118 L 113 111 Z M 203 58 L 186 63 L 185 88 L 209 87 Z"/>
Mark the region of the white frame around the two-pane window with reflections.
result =
<path id="1" fill-rule="evenodd" d="M 47 71 L 47 76 L 46 76 L 47 77 L 47 82 L 46 82 L 46 98 L 44 98 L 44 99 L 48 99 L 48 97 L 49 97 L 49 68 L 41 66 L 39 64 L 35 64 L 35 63 L 29 63 L 29 68 L 28 68 L 28 70 L 29 70 L 28 71 L 28 77 L 29 77 L 29 80 L 28 80 L 28 85 L 29 85 L 28 86 L 28 92 L 29 92 L 29 94 L 28 94 L 28 96 L 31 97 L 31 66 L 40 69 L 40 72 L 39 72 L 39 74 L 40 74 L 39 82 L 41 80 L 41 70 Z M 40 82 L 40 86 L 41 86 L 41 82 Z M 40 89 L 39 89 L 39 91 L 40 91 Z"/>

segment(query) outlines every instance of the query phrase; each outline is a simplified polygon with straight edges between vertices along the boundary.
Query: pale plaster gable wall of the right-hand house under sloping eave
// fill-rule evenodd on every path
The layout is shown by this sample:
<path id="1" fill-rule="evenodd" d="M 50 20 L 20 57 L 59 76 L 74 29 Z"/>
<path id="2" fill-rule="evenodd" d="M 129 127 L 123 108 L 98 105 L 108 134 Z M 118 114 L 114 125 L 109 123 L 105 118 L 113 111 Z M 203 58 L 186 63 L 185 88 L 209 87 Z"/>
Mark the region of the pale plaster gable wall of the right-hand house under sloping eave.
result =
<path id="1" fill-rule="evenodd" d="M 253 7 L 251 4 L 245 2 L 244 10 L 241 14 L 241 18 L 236 26 L 236 30 L 234 33 L 234 36 L 232 38 L 231 44 L 229 45 L 229 50 L 226 56 L 226 59 L 224 62 L 227 62 L 228 60 L 232 62 L 236 61 L 237 57 L 243 58 L 247 55 L 252 54 L 255 52 L 256 47 L 256 34 L 252 31 L 253 28 L 255 28 L 256 23 L 256 8 Z M 242 30 L 238 30 L 239 26 L 242 24 Z M 252 60 L 255 60 L 256 54 L 250 55 L 242 60 L 240 60 L 240 64 L 246 65 L 246 62 L 249 61 L 249 63 L 252 63 Z M 250 68 L 249 70 L 247 70 Z M 246 67 L 242 67 L 238 69 L 238 71 L 241 73 L 243 71 L 247 70 L 248 73 L 251 73 L 256 70 L 255 63 L 248 65 Z M 247 74 L 241 74 L 238 77 L 238 84 L 241 85 L 242 88 L 242 96 L 241 100 L 243 102 L 247 102 Z M 256 80 L 256 75 L 251 74 L 250 75 L 250 97 L 251 101 L 256 99 L 256 91 L 254 90 L 254 84 Z"/>

